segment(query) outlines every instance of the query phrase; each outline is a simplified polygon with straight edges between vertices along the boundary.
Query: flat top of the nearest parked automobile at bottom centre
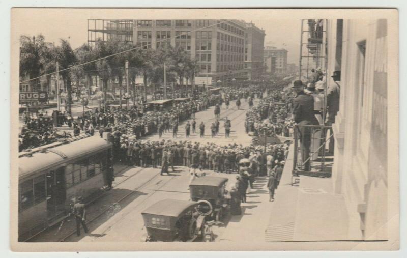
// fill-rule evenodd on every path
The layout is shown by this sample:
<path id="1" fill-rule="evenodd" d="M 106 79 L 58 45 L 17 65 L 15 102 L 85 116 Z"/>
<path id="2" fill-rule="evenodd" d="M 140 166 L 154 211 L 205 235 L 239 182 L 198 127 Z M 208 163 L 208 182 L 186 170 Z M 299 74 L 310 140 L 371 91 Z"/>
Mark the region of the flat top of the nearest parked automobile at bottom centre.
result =
<path id="1" fill-rule="evenodd" d="M 141 212 L 141 214 L 178 217 L 197 204 L 197 202 L 190 200 L 163 199 Z"/>

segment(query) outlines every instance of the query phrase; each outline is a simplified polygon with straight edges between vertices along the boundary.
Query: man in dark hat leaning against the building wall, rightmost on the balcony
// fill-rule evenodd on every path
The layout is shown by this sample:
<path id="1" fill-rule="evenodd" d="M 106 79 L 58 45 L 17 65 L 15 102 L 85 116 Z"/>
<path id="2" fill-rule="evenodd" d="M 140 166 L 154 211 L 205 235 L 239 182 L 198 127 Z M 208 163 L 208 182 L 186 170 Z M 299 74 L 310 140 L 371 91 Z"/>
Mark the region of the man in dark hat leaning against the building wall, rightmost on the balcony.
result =
<path id="1" fill-rule="evenodd" d="M 339 97 L 340 97 L 340 71 L 334 71 L 331 76 L 334 80 L 334 83 L 329 85 L 327 89 L 327 109 L 328 116 L 326 118 L 327 125 L 332 125 L 335 123 L 336 114 L 339 111 Z M 330 132 L 330 135 L 332 132 Z M 329 140 L 329 152 L 334 150 L 334 137 L 331 137 Z"/>

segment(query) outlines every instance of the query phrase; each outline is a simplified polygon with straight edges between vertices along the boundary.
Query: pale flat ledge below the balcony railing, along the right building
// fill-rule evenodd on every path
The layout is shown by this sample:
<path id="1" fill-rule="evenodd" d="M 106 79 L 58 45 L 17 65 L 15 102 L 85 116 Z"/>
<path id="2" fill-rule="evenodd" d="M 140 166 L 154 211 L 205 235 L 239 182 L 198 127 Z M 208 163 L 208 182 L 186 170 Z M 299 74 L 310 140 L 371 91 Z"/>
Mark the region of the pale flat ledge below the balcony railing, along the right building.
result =
<path id="1" fill-rule="evenodd" d="M 292 186 L 290 146 L 280 186 L 266 228 L 266 242 L 347 239 L 348 215 L 343 196 L 333 193 L 331 178 L 300 176 Z"/>

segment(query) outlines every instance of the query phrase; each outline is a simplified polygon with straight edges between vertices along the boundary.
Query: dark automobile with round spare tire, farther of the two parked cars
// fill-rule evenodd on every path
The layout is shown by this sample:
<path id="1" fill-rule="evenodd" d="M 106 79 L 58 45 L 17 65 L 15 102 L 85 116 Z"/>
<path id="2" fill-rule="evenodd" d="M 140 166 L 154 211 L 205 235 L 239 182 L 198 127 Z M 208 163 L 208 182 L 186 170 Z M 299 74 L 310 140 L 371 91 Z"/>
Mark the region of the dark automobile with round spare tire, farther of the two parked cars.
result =
<path id="1" fill-rule="evenodd" d="M 225 189 L 227 178 L 200 177 L 189 185 L 191 200 L 199 203 L 203 215 L 220 221 L 229 208 L 230 197 Z"/>

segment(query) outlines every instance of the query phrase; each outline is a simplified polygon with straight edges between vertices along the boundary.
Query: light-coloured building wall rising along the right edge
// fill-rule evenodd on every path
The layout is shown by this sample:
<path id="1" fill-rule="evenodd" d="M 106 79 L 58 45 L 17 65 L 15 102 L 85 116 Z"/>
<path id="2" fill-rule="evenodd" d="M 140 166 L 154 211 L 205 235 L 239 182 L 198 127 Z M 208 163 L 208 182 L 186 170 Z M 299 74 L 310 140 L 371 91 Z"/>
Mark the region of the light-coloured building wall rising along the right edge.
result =
<path id="1" fill-rule="evenodd" d="M 337 21 L 330 21 L 327 27 L 329 75 L 339 66 L 336 26 Z M 340 110 L 333 125 L 334 189 L 346 202 L 350 239 L 386 239 L 386 21 L 344 20 L 341 48 Z M 334 83 L 330 76 L 327 81 Z"/>

